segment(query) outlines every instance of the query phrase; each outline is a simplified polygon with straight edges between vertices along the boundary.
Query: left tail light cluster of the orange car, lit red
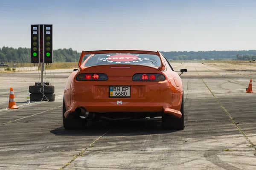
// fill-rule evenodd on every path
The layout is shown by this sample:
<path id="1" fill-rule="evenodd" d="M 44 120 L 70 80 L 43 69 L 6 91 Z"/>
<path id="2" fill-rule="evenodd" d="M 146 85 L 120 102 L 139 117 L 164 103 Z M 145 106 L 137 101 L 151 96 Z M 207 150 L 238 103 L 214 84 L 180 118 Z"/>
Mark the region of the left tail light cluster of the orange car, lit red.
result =
<path id="1" fill-rule="evenodd" d="M 76 76 L 77 81 L 106 81 L 108 76 L 103 73 L 86 73 Z"/>

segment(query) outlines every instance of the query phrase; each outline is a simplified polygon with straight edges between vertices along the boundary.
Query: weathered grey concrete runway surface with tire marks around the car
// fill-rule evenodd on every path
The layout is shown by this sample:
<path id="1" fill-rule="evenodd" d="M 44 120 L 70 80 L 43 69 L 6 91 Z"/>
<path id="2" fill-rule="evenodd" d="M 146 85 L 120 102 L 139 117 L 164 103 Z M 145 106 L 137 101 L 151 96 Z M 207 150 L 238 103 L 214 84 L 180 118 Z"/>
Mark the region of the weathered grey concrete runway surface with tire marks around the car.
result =
<path id="1" fill-rule="evenodd" d="M 255 170 L 256 94 L 245 93 L 256 72 L 171 63 L 185 91 L 184 130 L 162 130 L 161 119 L 91 122 L 64 130 L 62 99 L 72 69 L 47 71 L 55 102 L 26 105 L 38 71 L 0 74 L 0 170 L 174 169 Z M 17 110 L 6 110 L 10 87 Z M 255 90 L 256 91 L 256 90 Z"/>

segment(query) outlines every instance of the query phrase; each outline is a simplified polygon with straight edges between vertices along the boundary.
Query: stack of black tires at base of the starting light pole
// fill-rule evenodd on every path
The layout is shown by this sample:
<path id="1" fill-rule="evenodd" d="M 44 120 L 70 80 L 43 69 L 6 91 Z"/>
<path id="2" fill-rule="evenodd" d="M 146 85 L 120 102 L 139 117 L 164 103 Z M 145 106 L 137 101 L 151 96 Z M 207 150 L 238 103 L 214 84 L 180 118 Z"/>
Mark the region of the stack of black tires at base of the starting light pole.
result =
<path id="1" fill-rule="evenodd" d="M 30 85 L 29 86 L 30 101 L 55 101 L 54 86 L 53 85 Z"/>

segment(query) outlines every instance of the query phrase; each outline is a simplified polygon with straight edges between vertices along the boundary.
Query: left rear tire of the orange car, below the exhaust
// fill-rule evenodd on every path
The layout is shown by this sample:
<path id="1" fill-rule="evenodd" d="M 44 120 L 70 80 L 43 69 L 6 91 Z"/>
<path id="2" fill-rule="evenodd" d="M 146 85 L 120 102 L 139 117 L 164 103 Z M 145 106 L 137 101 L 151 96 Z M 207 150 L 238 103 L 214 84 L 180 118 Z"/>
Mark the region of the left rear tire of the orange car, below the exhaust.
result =
<path id="1" fill-rule="evenodd" d="M 66 119 L 64 113 L 66 112 L 65 100 L 63 97 L 63 105 L 62 105 L 62 119 L 63 119 L 63 127 L 66 130 L 81 130 L 87 128 L 87 120 L 81 119 L 79 116 L 74 114 L 73 119 Z"/>

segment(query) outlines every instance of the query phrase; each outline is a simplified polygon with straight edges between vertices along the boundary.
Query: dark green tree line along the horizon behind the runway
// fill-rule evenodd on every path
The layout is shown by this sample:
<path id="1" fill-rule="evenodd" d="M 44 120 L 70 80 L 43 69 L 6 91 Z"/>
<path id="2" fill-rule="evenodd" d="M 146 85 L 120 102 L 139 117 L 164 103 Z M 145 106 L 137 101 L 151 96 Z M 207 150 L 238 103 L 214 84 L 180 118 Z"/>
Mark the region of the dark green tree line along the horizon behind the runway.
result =
<path id="1" fill-rule="evenodd" d="M 161 51 L 167 59 L 173 60 L 193 60 L 193 59 L 236 59 L 252 60 L 256 59 L 256 50 L 248 51 Z M 53 50 L 54 62 L 78 62 L 81 52 L 72 48 Z M 22 61 L 30 62 L 30 48 L 12 48 L 3 46 L 0 48 L 0 61 L 9 62 Z"/>

